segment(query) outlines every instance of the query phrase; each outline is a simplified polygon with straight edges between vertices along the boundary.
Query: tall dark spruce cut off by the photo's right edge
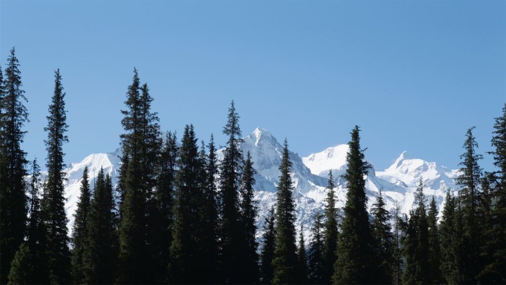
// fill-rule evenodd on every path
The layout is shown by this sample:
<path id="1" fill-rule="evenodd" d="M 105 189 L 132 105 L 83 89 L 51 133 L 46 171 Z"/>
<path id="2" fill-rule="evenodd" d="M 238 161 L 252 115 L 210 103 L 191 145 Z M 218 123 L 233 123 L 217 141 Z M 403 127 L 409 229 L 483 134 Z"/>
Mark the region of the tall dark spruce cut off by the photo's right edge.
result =
<path id="1" fill-rule="evenodd" d="M 497 171 L 491 173 L 489 180 L 489 200 L 491 209 L 488 215 L 486 238 L 483 244 L 487 262 L 479 273 L 480 282 L 486 284 L 506 283 L 506 103 L 502 115 L 495 118 L 492 137 L 493 151 L 488 152 L 494 158 Z"/>

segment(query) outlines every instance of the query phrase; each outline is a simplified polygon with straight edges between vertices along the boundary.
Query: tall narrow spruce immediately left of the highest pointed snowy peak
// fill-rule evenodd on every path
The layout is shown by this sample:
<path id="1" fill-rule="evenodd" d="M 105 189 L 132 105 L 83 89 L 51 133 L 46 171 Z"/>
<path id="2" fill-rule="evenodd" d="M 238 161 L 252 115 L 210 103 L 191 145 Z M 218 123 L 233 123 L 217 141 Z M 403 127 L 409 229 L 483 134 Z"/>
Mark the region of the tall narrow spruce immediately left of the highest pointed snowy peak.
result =
<path id="1" fill-rule="evenodd" d="M 240 275 L 240 248 L 243 229 L 239 222 L 239 187 L 244 164 L 239 144 L 243 142 L 239 128 L 239 115 L 232 100 L 228 109 L 228 122 L 223 134 L 228 136 L 220 164 L 220 271 L 224 283 L 242 282 Z"/>

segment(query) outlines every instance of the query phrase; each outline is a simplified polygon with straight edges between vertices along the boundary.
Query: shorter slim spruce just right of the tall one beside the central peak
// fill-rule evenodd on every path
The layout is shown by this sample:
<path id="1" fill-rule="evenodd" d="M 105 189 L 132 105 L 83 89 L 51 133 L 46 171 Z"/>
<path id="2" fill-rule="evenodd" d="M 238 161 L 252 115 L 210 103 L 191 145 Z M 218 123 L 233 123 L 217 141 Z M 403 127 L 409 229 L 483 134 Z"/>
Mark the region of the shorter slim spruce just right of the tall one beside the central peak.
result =
<path id="1" fill-rule="evenodd" d="M 257 253 L 258 242 L 256 239 L 257 225 L 255 219 L 258 215 L 257 201 L 255 200 L 255 175 L 257 171 L 253 168 L 253 161 L 249 151 L 246 153 L 244 170 L 241 176 L 240 204 L 241 227 L 244 229 L 244 262 L 243 281 L 247 284 L 258 283 L 259 281 L 259 257 Z"/>

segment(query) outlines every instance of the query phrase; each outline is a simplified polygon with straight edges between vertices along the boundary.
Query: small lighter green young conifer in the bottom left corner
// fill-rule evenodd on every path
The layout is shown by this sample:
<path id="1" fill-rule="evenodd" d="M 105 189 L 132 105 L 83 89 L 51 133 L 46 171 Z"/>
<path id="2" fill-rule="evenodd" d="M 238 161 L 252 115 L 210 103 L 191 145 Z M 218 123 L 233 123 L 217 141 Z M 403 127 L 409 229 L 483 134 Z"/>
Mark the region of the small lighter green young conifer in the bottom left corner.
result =
<path id="1" fill-rule="evenodd" d="M 8 284 L 31 284 L 33 274 L 33 256 L 26 242 L 21 243 L 14 255 L 9 272 Z"/>

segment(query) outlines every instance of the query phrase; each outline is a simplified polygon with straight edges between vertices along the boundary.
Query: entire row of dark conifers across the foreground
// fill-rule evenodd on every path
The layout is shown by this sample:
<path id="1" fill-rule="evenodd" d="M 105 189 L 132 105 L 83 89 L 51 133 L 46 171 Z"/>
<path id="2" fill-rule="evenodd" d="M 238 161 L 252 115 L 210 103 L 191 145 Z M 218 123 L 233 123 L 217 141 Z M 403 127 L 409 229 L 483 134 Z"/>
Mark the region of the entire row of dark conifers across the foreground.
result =
<path id="1" fill-rule="evenodd" d="M 329 172 L 323 212 L 314 216 L 306 249 L 296 229 L 291 161 L 285 139 L 276 205 L 257 229 L 255 165 L 242 153 L 240 116 L 228 109 L 218 160 L 192 125 L 164 137 L 147 84 L 134 68 L 121 110 L 117 185 L 88 169 L 68 235 L 63 143 L 65 93 L 59 69 L 45 131 L 47 177 L 21 149 L 28 121 L 15 49 L 0 68 L 0 283 L 51 284 L 464 284 L 506 282 L 506 104 L 495 118 L 496 171 L 483 173 L 473 128 L 460 156 L 458 194 L 448 190 L 441 217 L 420 179 L 413 210 L 386 210 L 380 191 L 370 213 L 369 165 L 355 126 L 348 143 L 345 206 L 336 207 Z M 27 177 L 30 177 L 27 179 Z M 299 233 L 299 235 L 298 235 Z M 260 238 L 257 238 L 261 235 Z"/>

